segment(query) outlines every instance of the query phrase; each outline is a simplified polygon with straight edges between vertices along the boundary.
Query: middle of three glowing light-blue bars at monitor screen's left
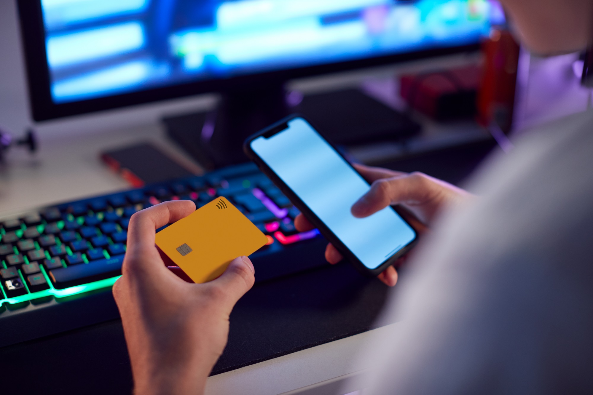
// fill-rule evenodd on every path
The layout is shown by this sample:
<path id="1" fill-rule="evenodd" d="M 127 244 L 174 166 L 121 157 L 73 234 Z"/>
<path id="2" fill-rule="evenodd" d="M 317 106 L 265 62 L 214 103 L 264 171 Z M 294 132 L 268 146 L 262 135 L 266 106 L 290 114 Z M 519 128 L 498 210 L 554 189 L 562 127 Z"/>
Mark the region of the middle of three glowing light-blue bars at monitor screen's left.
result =
<path id="1" fill-rule="evenodd" d="M 130 22 L 49 37 L 47 59 L 50 66 L 57 68 L 120 55 L 142 46 L 142 25 Z"/>

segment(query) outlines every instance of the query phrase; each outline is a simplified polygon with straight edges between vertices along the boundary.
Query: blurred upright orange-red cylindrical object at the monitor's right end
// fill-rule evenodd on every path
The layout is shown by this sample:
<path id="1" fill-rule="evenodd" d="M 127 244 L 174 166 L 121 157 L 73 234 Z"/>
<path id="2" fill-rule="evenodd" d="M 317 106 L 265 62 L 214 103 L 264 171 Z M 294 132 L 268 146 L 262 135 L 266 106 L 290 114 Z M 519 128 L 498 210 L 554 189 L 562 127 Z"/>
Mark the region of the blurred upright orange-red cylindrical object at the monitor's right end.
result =
<path id="1" fill-rule="evenodd" d="M 508 133 L 515 106 L 515 87 L 519 64 L 519 44 L 508 30 L 493 28 L 482 43 L 484 71 L 477 97 L 480 125 L 496 123 Z"/>

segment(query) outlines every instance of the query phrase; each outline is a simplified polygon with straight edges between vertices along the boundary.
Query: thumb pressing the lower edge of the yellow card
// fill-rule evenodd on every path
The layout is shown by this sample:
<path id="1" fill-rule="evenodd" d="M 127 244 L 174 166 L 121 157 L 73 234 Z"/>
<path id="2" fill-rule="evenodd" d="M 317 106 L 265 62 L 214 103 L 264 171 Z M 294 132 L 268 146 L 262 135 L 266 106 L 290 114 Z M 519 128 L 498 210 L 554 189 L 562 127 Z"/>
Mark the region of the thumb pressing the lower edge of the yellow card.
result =
<path id="1" fill-rule="evenodd" d="M 219 278 L 209 282 L 208 286 L 222 289 L 224 300 L 228 303 L 227 307 L 232 310 L 235 303 L 253 286 L 254 274 L 255 269 L 251 260 L 246 256 L 240 256 L 233 259 L 227 270 Z"/>

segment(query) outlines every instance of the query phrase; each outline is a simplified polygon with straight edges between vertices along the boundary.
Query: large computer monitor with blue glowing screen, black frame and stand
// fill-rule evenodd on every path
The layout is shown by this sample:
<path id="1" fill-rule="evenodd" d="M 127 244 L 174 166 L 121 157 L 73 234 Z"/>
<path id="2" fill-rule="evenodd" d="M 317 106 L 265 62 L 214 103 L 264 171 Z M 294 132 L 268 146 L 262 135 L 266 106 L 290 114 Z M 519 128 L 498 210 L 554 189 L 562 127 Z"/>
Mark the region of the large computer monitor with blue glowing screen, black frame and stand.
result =
<path id="1" fill-rule="evenodd" d="M 287 79 L 477 49 L 504 18 L 490 0 L 17 1 L 34 120 L 219 92 L 224 154 L 287 113 Z"/>

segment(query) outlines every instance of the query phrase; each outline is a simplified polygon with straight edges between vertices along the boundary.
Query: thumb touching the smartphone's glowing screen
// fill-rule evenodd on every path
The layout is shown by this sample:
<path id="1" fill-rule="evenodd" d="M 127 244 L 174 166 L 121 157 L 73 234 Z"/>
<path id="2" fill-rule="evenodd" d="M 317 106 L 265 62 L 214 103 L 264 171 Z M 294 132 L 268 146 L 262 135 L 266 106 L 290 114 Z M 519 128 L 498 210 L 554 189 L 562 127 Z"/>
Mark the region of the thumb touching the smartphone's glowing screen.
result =
<path id="1" fill-rule="evenodd" d="M 432 186 L 433 188 L 433 186 Z M 362 218 L 389 205 L 425 202 L 435 193 L 428 177 L 421 173 L 404 174 L 372 183 L 371 189 L 352 206 L 352 215 Z"/>

